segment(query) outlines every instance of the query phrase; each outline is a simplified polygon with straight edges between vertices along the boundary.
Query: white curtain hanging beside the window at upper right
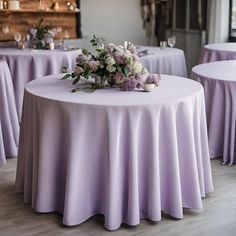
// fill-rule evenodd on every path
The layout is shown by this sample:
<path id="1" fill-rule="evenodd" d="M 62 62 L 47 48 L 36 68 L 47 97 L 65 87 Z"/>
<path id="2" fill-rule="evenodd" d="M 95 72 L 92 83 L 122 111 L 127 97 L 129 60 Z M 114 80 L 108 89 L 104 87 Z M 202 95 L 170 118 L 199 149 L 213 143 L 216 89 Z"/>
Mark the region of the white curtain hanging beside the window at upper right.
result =
<path id="1" fill-rule="evenodd" d="M 208 0 L 208 43 L 227 42 L 229 36 L 229 0 Z"/>

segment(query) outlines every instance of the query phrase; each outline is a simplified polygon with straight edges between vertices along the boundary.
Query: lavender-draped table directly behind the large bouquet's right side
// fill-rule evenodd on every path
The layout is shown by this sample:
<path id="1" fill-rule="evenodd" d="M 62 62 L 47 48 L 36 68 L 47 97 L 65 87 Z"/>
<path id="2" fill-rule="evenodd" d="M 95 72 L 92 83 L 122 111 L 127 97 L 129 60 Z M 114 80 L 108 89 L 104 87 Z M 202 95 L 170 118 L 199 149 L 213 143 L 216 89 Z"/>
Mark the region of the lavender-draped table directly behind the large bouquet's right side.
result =
<path id="1" fill-rule="evenodd" d="M 187 77 L 184 52 L 177 48 L 140 46 L 141 63 L 150 73 Z"/>

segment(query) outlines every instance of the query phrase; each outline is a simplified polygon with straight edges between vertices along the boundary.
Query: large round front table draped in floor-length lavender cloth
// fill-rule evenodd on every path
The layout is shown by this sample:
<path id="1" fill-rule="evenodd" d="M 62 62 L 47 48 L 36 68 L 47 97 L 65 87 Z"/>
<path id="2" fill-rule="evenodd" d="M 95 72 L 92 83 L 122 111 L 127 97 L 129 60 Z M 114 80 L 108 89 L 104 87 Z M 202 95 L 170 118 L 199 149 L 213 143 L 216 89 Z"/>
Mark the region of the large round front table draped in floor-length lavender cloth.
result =
<path id="1" fill-rule="evenodd" d="M 213 190 L 202 86 L 162 76 L 153 92 L 71 93 L 62 75 L 26 85 L 16 188 L 65 225 L 183 217 Z"/>

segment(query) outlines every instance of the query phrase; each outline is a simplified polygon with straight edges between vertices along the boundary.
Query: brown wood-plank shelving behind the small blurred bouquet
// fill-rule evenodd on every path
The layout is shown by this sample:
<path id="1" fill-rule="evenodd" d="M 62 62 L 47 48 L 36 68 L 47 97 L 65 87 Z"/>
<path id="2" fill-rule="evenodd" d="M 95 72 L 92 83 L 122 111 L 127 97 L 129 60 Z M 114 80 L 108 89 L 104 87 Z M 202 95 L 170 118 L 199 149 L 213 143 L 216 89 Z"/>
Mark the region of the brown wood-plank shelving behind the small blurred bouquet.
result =
<path id="1" fill-rule="evenodd" d="M 58 2 L 59 9 L 51 8 L 53 3 Z M 29 28 L 37 25 L 39 20 L 44 19 L 55 27 L 62 27 L 62 32 L 57 38 L 63 38 L 65 30 L 69 32 L 70 38 L 81 37 L 80 10 L 69 10 L 67 2 L 76 3 L 79 9 L 79 0 L 44 0 L 45 8 L 39 9 L 38 0 L 20 0 L 19 10 L 0 10 L 0 41 L 14 40 L 15 32 L 27 34 Z M 4 34 L 2 28 L 8 25 L 10 32 Z"/>

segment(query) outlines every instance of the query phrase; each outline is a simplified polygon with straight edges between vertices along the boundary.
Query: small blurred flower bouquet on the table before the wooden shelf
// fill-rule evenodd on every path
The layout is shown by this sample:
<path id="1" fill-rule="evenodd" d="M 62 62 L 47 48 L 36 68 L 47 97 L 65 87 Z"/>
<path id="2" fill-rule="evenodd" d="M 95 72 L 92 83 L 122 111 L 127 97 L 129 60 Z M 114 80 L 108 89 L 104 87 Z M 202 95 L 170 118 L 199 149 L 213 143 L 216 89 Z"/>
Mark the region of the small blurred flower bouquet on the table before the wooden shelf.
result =
<path id="1" fill-rule="evenodd" d="M 57 31 L 50 24 L 44 24 L 43 19 L 40 19 L 37 26 L 30 28 L 30 47 L 36 49 L 50 49 L 50 44 L 53 43 L 53 38 Z"/>

